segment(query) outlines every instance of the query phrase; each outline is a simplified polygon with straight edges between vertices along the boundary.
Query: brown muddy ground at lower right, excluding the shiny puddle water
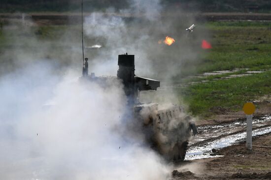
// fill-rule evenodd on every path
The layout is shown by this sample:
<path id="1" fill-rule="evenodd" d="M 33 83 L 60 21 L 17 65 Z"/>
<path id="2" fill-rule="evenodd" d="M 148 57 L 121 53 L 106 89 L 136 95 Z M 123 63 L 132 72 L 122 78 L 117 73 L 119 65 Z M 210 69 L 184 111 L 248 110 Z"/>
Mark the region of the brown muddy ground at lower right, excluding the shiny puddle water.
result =
<path id="1" fill-rule="evenodd" d="M 270 117 L 271 103 L 267 98 L 255 101 L 257 110 L 254 119 Z M 269 114 L 269 115 L 267 115 Z M 242 111 L 225 112 L 217 116 L 198 122 L 198 136 L 202 136 L 202 142 L 196 142 L 191 146 L 207 146 L 205 141 L 213 141 L 227 138 L 232 135 L 245 133 L 245 115 Z M 225 125 L 225 126 L 224 126 Z M 235 125 L 235 126 L 234 126 Z M 213 127 L 217 127 L 217 130 Z M 228 126 L 228 127 L 226 127 Z M 210 128 L 208 132 L 206 127 Z M 223 128 L 222 128 L 223 127 Z M 271 120 L 258 121 L 253 124 L 254 129 L 271 128 Z M 219 129 L 220 128 L 220 129 Z M 226 130 L 226 132 L 225 132 Z M 206 136 L 204 134 L 208 133 Z M 217 134 L 216 136 L 214 136 Z M 219 143 L 217 143 L 219 144 Z M 211 149 L 210 158 L 186 160 L 176 166 L 172 172 L 172 180 L 271 180 L 271 132 L 254 136 L 251 151 L 245 147 L 245 140 L 237 141 L 234 145 L 224 148 Z M 188 156 L 188 154 L 187 154 Z M 211 157 L 213 156 L 213 157 Z"/>

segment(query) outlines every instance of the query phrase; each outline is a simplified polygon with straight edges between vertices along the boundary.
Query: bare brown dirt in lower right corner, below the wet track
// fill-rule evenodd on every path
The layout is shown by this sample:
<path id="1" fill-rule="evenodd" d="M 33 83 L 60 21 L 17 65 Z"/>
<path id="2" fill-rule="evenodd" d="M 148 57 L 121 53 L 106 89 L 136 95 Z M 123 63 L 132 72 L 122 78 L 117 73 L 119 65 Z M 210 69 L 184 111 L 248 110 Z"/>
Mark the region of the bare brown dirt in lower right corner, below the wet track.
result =
<path id="1" fill-rule="evenodd" d="M 242 142 L 214 154 L 223 157 L 183 162 L 173 180 L 271 180 L 271 134 L 253 138 L 252 151 Z"/>

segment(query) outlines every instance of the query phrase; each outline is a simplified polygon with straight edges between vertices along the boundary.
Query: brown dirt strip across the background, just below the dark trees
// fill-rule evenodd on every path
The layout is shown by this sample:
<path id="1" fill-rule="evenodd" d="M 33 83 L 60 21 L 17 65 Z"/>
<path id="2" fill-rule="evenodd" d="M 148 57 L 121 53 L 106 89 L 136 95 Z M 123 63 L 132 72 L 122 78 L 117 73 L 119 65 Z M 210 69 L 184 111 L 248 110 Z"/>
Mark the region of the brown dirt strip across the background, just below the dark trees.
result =
<path id="1" fill-rule="evenodd" d="M 84 13 L 88 16 L 91 13 Z M 119 13 L 103 13 L 108 16 L 121 16 L 123 18 L 142 18 L 140 15 L 134 14 L 119 14 Z M 251 21 L 271 21 L 271 14 L 266 13 L 164 13 L 162 17 L 176 17 L 176 16 L 191 16 L 197 20 L 207 21 L 230 21 L 230 20 L 251 20 Z M 33 20 L 37 25 L 65 25 L 65 24 L 80 24 L 80 13 L 0 13 L 0 20 Z"/>

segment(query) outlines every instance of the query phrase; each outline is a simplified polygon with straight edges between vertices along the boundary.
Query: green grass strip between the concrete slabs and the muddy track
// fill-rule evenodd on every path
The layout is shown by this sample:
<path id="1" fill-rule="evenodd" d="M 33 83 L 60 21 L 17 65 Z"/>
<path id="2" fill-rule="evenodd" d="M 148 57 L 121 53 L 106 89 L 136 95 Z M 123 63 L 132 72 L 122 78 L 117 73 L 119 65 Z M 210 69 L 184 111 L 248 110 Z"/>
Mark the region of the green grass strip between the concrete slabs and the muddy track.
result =
<path id="1" fill-rule="evenodd" d="M 222 107 L 228 110 L 240 110 L 244 103 L 271 93 L 271 72 L 217 80 L 196 84 L 181 90 L 184 103 L 189 111 L 203 117 L 213 115 L 210 108 Z"/>

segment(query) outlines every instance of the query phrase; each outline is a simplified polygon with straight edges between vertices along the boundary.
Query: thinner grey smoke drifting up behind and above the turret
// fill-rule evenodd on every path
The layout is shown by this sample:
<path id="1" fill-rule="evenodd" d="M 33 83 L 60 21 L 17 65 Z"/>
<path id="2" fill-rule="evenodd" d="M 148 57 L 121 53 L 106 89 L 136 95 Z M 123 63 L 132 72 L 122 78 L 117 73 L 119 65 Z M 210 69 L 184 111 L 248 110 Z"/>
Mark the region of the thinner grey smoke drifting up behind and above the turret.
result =
<path id="1" fill-rule="evenodd" d="M 93 44 L 102 45 L 99 55 L 86 50 L 91 58 L 91 71 L 99 72 L 96 65 L 106 62 L 111 68 L 102 74 L 115 75 L 117 55 L 127 52 L 135 54 L 135 72 L 139 76 L 169 81 L 187 64 L 193 73 L 201 59 L 198 53 L 201 40 L 208 37 L 201 29 L 191 34 L 185 31 L 197 23 L 194 17 L 181 9 L 163 9 L 159 0 L 131 0 L 130 6 L 121 11 L 126 15 L 116 12 L 115 16 L 108 15 L 114 12 L 108 9 L 105 13 L 94 12 L 85 18 L 85 35 L 88 39 L 95 39 Z M 166 36 L 173 37 L 175 43 L 171 46 L 159 44 L 159 40 Z"/>

